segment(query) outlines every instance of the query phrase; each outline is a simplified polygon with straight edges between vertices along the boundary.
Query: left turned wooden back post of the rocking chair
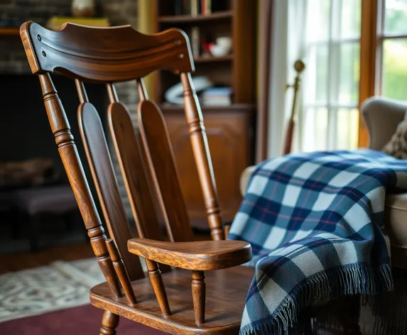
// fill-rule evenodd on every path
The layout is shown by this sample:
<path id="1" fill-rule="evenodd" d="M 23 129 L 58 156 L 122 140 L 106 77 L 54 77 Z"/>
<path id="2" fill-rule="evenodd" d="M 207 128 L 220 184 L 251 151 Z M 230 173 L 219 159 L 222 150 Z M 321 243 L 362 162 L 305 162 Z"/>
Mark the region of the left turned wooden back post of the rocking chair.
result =
<path id="1" fill-rule="evenodd" d="M 58 97 L 58 92 L 56 91 L 48 72 L 40 74 L 38 77 L 43 91 L 45 109 L 50 121 L 51 130 L 55 136 L 55 142 L 58 145 L 61 160 L 63 161 L 65 171 L 67 172 L 72 191 L 75 194 L 80 213 L 82 214 L 92 249 L 97 257 L 97 263 L 99 263 L 99 267 L 102 270 L 112 293 L 116 297 L 119 297 L 121 291 L 114 272 L 112 260 L 107 251 L 107 238 L 104 234 L 99 214 L 97 214 L 97 209 L 94 205 L 89 185 L 87 184 L 85 177 L 85 172 L 80 163 L 80 158 L 77 153 L 74 138 L 70 132 L 70 124 L 67 121 L 65 110 L 63 109 L 63 105 Z"/>

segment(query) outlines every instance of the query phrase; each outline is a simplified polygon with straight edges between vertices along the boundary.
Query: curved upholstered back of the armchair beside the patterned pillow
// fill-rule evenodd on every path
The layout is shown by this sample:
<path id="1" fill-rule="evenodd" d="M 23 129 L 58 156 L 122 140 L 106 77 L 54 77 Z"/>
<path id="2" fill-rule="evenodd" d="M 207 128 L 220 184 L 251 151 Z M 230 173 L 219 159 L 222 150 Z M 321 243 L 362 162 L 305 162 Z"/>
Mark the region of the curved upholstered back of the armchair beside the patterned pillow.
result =
<path id="1" fill-rule="evenodd" d="M 381 150 L 403 121 L 407 101 L 372 97 L 364 101 L 361 109 L 369 130 L 369 148 Z"/>

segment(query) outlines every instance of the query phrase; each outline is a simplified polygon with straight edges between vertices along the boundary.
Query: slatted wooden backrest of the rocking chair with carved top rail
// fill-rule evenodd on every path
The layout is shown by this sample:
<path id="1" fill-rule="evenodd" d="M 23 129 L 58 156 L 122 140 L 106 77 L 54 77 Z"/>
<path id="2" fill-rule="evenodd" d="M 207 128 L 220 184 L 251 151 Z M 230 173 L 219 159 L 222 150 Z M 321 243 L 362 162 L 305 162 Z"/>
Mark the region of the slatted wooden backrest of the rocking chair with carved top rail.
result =
<path id="1" fill-rule="evenodd" d="M 88 101 L 83 82 L 107 85 L 110 100 L 109 126 L 140 236 L 162 238 L 152 198 L 153 194 L 157 194 L 168 236 L 173 241 L 187 241 L 191 230 L 168 133 L 161 111 L 147 100 L 142 79 L 158 69 L 168 69 L 180 74 L 185 97 L 185 116 L 211 235 L 215 240 L 223 239 L 215 177 L 202 112 L 192 87 L 190 72 L 194 70 L 194 65 L 185 33 L 169 29 L 163 33 L 143 35 L 130 26 L 90 28 L 70 23 L 55 32 L 28 21 L 21 26 L 20 34 L 31 70 L 40 79 L 50 126 L 92 248 L 112 290 L 118 290 L 118 282 L 113 275 L 112 262 L 105 244 L 106 236 L 50 72 L 57 71 L 75 79 L 80 98 L 80 131 L 92 177 L 109 234 L 119 247 L 131 280 L 140 278 L 143 273 L 139 259 L 126 249 L 126 241 L 131 238 L 129 223 L 119 197 L 102 123 L 97 110 Z M 132 79 L 137 81 L 141 99 L 138 110 L 139 131 L 136 133 L 129 111 L 118 101 L 114 88 L 114 82 Z M 151 185 L 156 187 L 155 192 L 149 188 Z"/>

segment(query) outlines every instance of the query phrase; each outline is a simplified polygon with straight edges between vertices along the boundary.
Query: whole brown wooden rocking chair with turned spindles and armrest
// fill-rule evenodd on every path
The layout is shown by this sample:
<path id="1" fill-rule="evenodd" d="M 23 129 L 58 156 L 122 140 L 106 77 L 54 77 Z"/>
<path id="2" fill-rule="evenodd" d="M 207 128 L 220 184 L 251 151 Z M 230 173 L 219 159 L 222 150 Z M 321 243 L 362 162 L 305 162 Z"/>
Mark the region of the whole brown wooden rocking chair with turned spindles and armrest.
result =
<path id="1" fill-rule="evenodd" d="M 54 32 L 33 22 L 24 23 L 20 33 L 31 70 L 40 79 L 50 126 L 94 254 L 107 280 L 90 292 L 92 304 L 105 310 L 100 334 L 116 334 L 119 316 L 171 334 L 237 334 L 254 275 L 253 268 L 237 265 L 250 260 L 251 247 L 242 241 L 222 241 L 225 232 L 210 152 L 191 84 L 194 65 L 188 37 L 177 29 L 143 35 L 130 26 L 66 24 Z M 142 77 L 161 68 L 180 74 L 186 121 L 215 241 L 191 242 L 163 115 L 148 101 L 143 86 Z M 75 79 L 82 141 L 112 238 L 108 241 L 50 77 L 54 70 Z M 114 82 L 131 79 L 136 79 L 141 99 L 136 131 L 114 88 Z M 107 85 L 109 127 L 140 238 L 131 236 L 102 123 L 83 82 Z M 170 241 L 163 241 L 156 204 Z M 146 259 L 149 280 L 138 256 Z"/>

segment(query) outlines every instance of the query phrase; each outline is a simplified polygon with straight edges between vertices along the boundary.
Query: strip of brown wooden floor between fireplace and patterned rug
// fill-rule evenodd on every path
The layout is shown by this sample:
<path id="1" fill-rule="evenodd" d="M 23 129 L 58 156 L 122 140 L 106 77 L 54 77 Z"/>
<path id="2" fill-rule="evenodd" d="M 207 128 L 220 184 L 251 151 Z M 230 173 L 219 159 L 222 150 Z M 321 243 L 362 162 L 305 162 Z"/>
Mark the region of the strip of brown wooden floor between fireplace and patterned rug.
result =
<path id="1" fill-rule="evenodd" d="M 195 241 L 210 240 L 209 234 L 195 234 Z M 90 243 L 77 243 L 68 246 L 48 248 L 37 253 L 8 253 L 0 255 L 0 275 L 11 271 L 37 268 L 48 265 L 55 260 L 77 260 L 93 257 Z"/>

